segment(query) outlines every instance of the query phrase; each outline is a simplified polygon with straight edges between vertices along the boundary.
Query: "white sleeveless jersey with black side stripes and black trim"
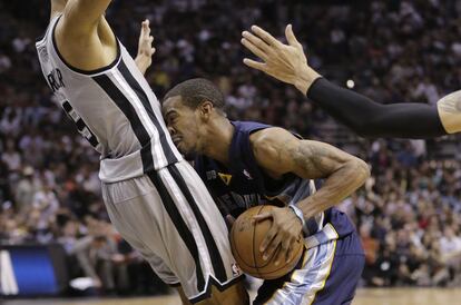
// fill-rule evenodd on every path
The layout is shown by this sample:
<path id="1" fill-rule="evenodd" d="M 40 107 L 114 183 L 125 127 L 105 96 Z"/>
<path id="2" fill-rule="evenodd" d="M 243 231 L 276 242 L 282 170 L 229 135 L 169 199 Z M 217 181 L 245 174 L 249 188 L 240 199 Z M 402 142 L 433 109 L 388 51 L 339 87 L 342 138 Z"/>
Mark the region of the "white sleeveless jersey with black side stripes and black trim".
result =
<path id="1" fill-rule="evenodd" d="M 179 161 L 160 104 L 125 47 L 117 40 L 117 58 L 108 67 L 76 69 L 56 47 L 59 18 L 36 43 L 40 66 L 66 114 L 101 154 L 99 178 L 120 181 Z"/>

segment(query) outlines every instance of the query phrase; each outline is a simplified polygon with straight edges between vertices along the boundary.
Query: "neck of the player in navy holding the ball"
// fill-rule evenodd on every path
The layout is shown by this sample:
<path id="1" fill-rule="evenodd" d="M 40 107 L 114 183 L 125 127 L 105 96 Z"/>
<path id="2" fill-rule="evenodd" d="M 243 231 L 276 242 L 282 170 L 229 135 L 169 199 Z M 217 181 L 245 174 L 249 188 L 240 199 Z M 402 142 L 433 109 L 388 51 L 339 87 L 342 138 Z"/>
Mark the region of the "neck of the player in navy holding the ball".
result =
<path id="1" fill-rule="evenodd" d="M 228 166 L 234 126 L 227 118 L 222 117 L 207 126 L 205 135 L 206 139 L 202 154 Z"/>

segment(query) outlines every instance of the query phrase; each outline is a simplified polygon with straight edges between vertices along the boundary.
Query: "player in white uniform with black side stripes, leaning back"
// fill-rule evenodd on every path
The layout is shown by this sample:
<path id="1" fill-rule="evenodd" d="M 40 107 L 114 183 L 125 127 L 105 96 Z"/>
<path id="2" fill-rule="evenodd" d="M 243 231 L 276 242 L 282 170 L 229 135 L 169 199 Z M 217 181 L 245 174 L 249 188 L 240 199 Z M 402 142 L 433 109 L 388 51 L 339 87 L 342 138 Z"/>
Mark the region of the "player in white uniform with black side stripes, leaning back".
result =
<path id="1" fill-rule="evenodd" d="M 51 0 L 50 23 L 37 42 L 43 76 L 101 155 L 102 196 L 121 236 L 165 283 L 179 286 L 185 304 L 248 304 L 226 225 L 106 21 L 110 2 Z"/>

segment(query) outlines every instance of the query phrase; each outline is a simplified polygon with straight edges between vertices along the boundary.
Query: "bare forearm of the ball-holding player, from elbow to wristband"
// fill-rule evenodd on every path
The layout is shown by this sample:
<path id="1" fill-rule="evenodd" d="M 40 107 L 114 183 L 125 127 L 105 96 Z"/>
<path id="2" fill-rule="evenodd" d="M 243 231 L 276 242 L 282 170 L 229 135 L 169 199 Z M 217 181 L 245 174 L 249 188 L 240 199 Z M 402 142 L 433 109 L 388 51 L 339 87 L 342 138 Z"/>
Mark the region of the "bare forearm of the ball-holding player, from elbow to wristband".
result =
<path id="1" fill-rule="evenodd" d="M 360 188 L 369 177 L 370 169 L 364 161 L 354 158 L 345 163 L 325 179 L 322 188 L 298 203 L 304 218 L 308 219 L 339 205 Z"/>

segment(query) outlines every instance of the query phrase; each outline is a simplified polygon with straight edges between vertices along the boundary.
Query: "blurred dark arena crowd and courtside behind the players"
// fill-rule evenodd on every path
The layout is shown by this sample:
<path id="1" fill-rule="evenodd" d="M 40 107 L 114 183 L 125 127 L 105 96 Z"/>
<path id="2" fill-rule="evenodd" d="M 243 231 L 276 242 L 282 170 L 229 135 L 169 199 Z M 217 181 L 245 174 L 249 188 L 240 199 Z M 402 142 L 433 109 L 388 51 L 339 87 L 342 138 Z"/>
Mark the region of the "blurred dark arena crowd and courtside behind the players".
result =
<path id="1" fill-rule="evenodd" d="M 359 138 L 294 88 L 245 67 L 239 43 L 252 24 L 282 37 L 290 22 L 330 80 L 353 80 L 384 104 L 434 104 L 461 88 L 460 13 L 455 0 L 115 0 L 107 19 L 133 55 L 140 21 L 150 20 L 157 52 L 147 79 L 158 97 L 206 77 L 225 92 L 230 118 L 283 126 L 370 164 L 372 178 L 341 205 L 366 250 L 353 304 L 461 304 L 459 136 Z M 174 293 L 110 226 L 98 156 L 50 98 L 35 50 L 48 18 L 48 1 L 0 1 L 0 298 L 178 304 L 158 296 Z M 130 298 L 139 296 L 149 298 Z"/>

